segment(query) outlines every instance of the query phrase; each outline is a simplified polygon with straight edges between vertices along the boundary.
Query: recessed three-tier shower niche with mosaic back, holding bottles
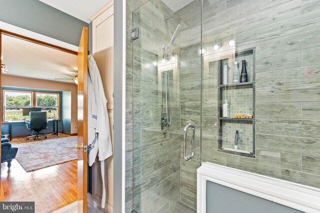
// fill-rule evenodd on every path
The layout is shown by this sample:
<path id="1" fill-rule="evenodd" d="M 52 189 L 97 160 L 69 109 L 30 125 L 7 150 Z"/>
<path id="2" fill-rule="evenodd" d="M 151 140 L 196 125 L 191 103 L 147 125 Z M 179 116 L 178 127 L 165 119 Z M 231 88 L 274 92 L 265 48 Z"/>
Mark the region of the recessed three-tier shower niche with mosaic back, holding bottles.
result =
<path id="1" fill-rule="evenodd" d="M 234 83 L 233 73 L 238 67 L 238 80 L 246 61 L 247 82 Z M 234 64 L 234 62 L 237 64 Z M 223 81 L 223 67 L 228 67 L 227 83 Z M 255 157 L 255 48 L 237 51 L 217 61 L 218 79 L 218 151 L 234 155 Z M 223 104 L 227 100 L 228 117 L 223 117 Z"/>

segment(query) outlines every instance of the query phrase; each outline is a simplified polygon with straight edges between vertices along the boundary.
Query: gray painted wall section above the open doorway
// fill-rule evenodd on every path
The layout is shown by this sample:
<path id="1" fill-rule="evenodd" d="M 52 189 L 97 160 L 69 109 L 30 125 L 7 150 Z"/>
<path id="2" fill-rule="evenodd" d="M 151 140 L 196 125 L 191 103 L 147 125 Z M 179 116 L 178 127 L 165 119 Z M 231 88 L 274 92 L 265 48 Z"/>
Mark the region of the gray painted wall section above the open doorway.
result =
<path id="1" fill-rule="evenodd" d="M 88 23 L 38 0 L 0 0 L 0 21 L 78 46 Z"/>

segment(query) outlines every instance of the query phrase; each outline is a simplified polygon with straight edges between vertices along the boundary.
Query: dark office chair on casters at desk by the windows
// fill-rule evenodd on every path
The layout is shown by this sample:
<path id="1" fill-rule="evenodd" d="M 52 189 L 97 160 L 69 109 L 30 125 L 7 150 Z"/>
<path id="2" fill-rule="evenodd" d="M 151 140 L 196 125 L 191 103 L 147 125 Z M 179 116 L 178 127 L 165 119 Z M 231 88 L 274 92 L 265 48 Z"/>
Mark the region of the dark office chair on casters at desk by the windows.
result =
<path id="1" fill-rule="evenodd" d="M 42 131 L 43 129 L 46 129 L 46 112 L 30 112 L 30 120 L 25 121 L 25 126 L 28 130 L 32 130 L 32 133 L 30 136 L 26 137 L 26 140 L 29 140 L 29 138 L 33 138 L 34 140 L 39 137 L 46 138 L 45 133 Z M 36 132 L 35 134 L 33 134 Z"/>

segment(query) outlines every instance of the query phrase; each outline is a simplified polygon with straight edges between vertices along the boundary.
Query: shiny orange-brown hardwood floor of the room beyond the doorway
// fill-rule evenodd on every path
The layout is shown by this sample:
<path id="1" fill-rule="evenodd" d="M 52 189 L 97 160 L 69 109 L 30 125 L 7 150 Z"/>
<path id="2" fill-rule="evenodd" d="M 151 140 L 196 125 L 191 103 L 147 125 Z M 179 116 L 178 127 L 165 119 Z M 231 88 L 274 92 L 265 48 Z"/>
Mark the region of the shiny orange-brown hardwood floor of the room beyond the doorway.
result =
<path id="1" fill-rule="evenodd" d="M 68 136 L 48 135 L 45 140 Z M 11 144 L 33 141 L 15 138 Z M 76 160 L 28 173 L 16 160 L 10 170 L 6 164 L 1 164 L 0 201 L 34 201 L 36 213 L 51 213 L 77 200 Z"/>

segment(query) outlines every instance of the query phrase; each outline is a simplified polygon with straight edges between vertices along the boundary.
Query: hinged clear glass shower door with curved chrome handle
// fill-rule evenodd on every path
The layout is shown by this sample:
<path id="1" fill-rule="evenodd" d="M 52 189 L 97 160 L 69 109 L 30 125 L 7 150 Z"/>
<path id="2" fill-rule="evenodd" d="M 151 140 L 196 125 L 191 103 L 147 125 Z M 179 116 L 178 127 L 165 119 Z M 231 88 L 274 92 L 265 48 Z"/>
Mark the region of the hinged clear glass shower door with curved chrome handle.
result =
<path id="1" fill-rule="evenodd" d="M 183 22 L 188 16 L 181 9 L 173 11 L 161 0 L 150 0 L 132 14 L 132 28 L 138 28 L 132 51 L 132 210 L 137 213 L 192 213 L 196 209 L 196 169 L 200 166 L 200 29 L 193 31 L 197 37 L 190 42 L 187 36 L 190 20 L 187 24 Z M 184 144 L 187 125 L 190 128 L 186 128 Z M 184 160 L 184 154 L 191 156 L 192 151 L 194 157 Z"/>

